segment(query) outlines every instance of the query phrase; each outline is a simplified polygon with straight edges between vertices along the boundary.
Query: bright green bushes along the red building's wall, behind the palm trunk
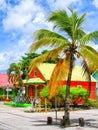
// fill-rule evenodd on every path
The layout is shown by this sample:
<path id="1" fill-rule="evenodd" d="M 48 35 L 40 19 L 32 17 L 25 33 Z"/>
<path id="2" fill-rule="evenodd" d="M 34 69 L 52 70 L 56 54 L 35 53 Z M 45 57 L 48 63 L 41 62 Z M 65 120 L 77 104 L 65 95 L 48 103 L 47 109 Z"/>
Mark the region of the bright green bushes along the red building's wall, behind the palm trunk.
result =
<path id="1" fill-rule="evenodd" d="M 40 96 L 42 98 L 48 99 L 48 86 L 45 86 L 42 91 L 40 92 Z M 58 92 L 57 102 L 59 103 L 59 107 L 64 106 L 65 103 L 65 97 L 66 97 L 66 86 L 63 86 L 60 91 Z M 84 101 L 88 97 L 88 92 L 86 89 L 81 87 L 71 87 L 70 88 L 70 103 L 71 104 L 83 104 Z M 47 102 L 48 103 L 48 102 Z M 48 103 L 49 105 L 49 103 Z M 52 99 L 51 106 L 55 106 L 55 99 Z"/>

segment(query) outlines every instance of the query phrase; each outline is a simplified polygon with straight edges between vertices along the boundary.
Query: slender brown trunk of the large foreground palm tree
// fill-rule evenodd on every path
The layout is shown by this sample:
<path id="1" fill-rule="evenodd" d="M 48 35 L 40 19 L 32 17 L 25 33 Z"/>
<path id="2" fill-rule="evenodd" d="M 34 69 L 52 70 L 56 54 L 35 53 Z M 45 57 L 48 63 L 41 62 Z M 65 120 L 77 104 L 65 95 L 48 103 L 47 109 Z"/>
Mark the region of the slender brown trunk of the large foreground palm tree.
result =
<path id="1" fill-rule="evenodd" d="M 70 108 L 70 83 L 71 83 L 72 69 L 73 69 L 73 55 L 70 56 L 70 68 L 66 84 L 65 115 L 64 115 L 65 126 L 70 125 L 69 108 Z"/>

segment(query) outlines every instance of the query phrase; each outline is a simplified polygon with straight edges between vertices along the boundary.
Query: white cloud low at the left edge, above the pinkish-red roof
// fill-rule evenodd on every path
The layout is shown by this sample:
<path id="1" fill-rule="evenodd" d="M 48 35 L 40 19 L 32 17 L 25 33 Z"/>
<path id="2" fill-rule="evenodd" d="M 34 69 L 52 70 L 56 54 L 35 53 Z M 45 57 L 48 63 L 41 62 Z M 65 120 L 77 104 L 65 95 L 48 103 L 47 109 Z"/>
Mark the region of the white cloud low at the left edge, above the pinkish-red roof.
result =
<path id="1" fill-rule="evenodd" d="M 17 63 L 21 59 L 21 56 L 28 51 L 30 44 L 27 44 L 25 39 L 17 40 L 17 44 L 6 51 L 0 52 L 0 70 L 7 70 L 11 63 Z"/>

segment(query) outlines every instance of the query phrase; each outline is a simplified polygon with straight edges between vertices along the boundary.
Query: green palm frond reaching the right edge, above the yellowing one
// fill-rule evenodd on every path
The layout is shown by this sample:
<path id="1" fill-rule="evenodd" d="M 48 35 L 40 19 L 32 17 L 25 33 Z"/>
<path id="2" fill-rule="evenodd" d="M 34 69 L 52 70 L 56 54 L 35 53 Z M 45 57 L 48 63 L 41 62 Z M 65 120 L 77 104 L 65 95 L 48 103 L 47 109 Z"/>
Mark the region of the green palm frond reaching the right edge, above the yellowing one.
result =
<path id="1" fill-rule="evenodd" d="M 87 44 L 88 42 L 94 42 L 94 41 L 98 41 L 98 31 L 86 34 L 84 35 L 84 37 L 80 39 L 81 44 Z"/>

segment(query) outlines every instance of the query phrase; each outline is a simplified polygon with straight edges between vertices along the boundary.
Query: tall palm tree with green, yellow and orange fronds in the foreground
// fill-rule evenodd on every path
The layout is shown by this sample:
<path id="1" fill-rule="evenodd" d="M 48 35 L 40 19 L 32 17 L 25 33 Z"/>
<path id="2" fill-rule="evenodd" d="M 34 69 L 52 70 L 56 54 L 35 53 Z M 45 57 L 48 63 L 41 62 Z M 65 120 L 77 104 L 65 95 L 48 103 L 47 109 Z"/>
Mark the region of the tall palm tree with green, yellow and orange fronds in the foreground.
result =
<path id="1" fill-rule="evenodd" d="M 88 44 L 98 40 L 98 31 L 86 33 L 83 29 L 86 14 L 78 16 L 76 11 L 69 8 L 70 15 L 65 10 L 51 12 L 48 21 L 54 23 L 57 32 L 40 29 L 34 33 L 34 43 L 30 46 L 30 52 L 35 52 L 43 46 L 50 47 L 50 51 L 35 58 L 30 63 L 30 69 L 46 59 L 55 59 L 60 56 L 49 81 L 49 98 L 57 94 L 60 80 L 67 76 L 65 99 L 65 125 L 70 125 L 69 99 L 70 82 L 75 61 L 80 58 L 84 73 L 88 78 L 89 91 L 91 77 L 88 63 L 98 64 L 98 54 Z M 89 93 L 90 94 L 90 93 Z"/>

